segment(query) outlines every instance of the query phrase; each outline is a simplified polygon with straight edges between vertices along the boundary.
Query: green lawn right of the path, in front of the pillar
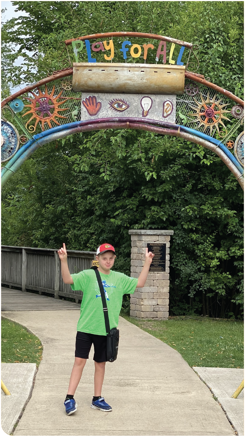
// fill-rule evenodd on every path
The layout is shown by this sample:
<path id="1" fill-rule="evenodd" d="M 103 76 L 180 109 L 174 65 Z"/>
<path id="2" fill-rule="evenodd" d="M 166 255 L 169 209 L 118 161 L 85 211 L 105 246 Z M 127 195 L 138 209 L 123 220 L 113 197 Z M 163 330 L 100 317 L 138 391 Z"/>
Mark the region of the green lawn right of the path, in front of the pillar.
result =
<path id="1" fill-rule="evenodd" d="M 203 317 L 174 317 L 166 321 L 123 316 L 198 367 L 243 368 L 243 323 Z"/>

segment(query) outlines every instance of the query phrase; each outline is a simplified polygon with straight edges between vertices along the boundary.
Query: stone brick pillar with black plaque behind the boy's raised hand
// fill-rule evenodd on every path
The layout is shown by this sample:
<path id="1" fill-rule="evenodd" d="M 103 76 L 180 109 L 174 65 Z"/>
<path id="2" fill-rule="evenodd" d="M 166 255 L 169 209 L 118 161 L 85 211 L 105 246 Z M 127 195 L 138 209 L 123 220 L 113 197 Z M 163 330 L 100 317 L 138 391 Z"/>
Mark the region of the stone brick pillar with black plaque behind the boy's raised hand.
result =
<path id="1" fill-rule="evenodd" d="M 130 229 L 131 276 L 139 277 L 145 264 L 147 243 L 166 243 L 165 271 L 150 271 L 145 287 L 137 288 L 130 299 L 130 316 L 166 320 L 169 316 L 169 246 L 173 231 Z"/>

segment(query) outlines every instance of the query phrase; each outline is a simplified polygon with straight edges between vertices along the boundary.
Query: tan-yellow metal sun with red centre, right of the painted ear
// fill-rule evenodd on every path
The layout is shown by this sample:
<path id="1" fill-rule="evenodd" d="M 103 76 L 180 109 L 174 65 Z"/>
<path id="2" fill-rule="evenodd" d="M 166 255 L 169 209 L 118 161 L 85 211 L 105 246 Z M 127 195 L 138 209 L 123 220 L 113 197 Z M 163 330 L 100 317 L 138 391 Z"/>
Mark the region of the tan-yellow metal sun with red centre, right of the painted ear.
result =
<path id="1" fill-rule="evenodd" d="M 199 126 L 204 126 L 204 131 L 207 128 L 210 128 L 210 135 L 213 132 L 213 128 L 217 130 L 218 135 L 221 138 L 224 138 L 227 135 L 227 130 L 226 127 L 222 121 L 222 119 L 224 120 L 229 120 L 230 119 L 228 117 L 226 117 L 224 114 L 226 112 L 231 112 L 231 111 L 227 111 L 224 110 L 224 108 L 229 105 L 230 103 L 226 103 L 226 104 L 221 104 L 221 100 L 223 97 L 221 97 L 220 100 L 215 101 L 217 94 L 214 95 L 213 98 L 210 98 L 209 96 L 209 92 L 207 93 L 207 100 L 204 100 L 202 94 L 200 93 L 200 97 L 201 97 L 201 102 L 198 102 L 196 99 L 193 100 L 196 102 L 197 104 L 197 108 L 190 106 L 190 108 L 194 109 L 196 111 L 195 114 L 187 114 L 190 115 L 192 117 L 196 117 L 196 120 L 193 120 L 192 123 L 199 123 Z M 219 125 L 222 125 L 224 129 L 222 129 L 222 131 L 220 132 L 219 130 Z"/>

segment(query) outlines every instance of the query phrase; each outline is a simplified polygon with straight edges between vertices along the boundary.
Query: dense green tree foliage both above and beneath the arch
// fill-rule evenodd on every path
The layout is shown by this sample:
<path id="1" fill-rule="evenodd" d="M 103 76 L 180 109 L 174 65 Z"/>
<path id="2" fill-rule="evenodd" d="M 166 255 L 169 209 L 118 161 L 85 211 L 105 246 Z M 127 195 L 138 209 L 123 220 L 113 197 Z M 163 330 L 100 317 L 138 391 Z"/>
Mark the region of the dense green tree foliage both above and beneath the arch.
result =
<path id="1" fill-rule="evenodd" d="M 198 73 L 242 95 L 242 2 L 13 3 L 30 16 L 3 28 L 6 45 L 20 44 L 4 56 L 34 55 L 25 55 L 25 66 L 10 69 L 6 62 L 8 83 L 34 82 L 58 69 L 64 39 L 128 30 L 197 42 Z M 141 131 L 87 132 L 43 146 L 12 177 L 2 196 L 3 244 L 66 242 L 69 249 L 95 250 L 109 241 L 119 254 L 115 268 L 128 274 L 128 229 L 174 229 L 172 314 L 237 317 L 242 198 L 228 168 L 200 146 Z"/>

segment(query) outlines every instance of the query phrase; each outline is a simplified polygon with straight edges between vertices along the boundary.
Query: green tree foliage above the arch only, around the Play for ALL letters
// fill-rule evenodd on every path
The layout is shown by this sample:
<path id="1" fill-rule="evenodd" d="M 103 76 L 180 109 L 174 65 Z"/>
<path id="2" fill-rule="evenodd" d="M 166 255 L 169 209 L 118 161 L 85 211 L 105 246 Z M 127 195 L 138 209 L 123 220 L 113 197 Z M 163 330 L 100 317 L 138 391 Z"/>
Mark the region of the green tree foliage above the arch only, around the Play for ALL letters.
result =
<path id="1" fill-rule="evenodd" d="M 24 56 L 25 68 L 6 66 L 5 71 L 14 86 L 35 82 L 61 68 L 58 59 L 64 44 L 60 43 L 66 39 L 100 32 L 133 31 L 197 43 L 200 59 L 198 73 L 210 77 L 211 82 L 221 87 L 225 84 L 226 89 L 239 97 L 242 95 L 242 1 L 12 3 L 17 10 L 30 14 L 29 17 L 10 20 L 2 32 L 4 41 L 19 45 L 18 50 L 8 53 L 6 58 L 13 61 L 19 55 Z M 26 51 L 34 53 L 30 55 Z M 191 60 L 195 62 L 194 57 Z M 121 53 L 117 50 L 114 61 L 122 62 Z"/>

